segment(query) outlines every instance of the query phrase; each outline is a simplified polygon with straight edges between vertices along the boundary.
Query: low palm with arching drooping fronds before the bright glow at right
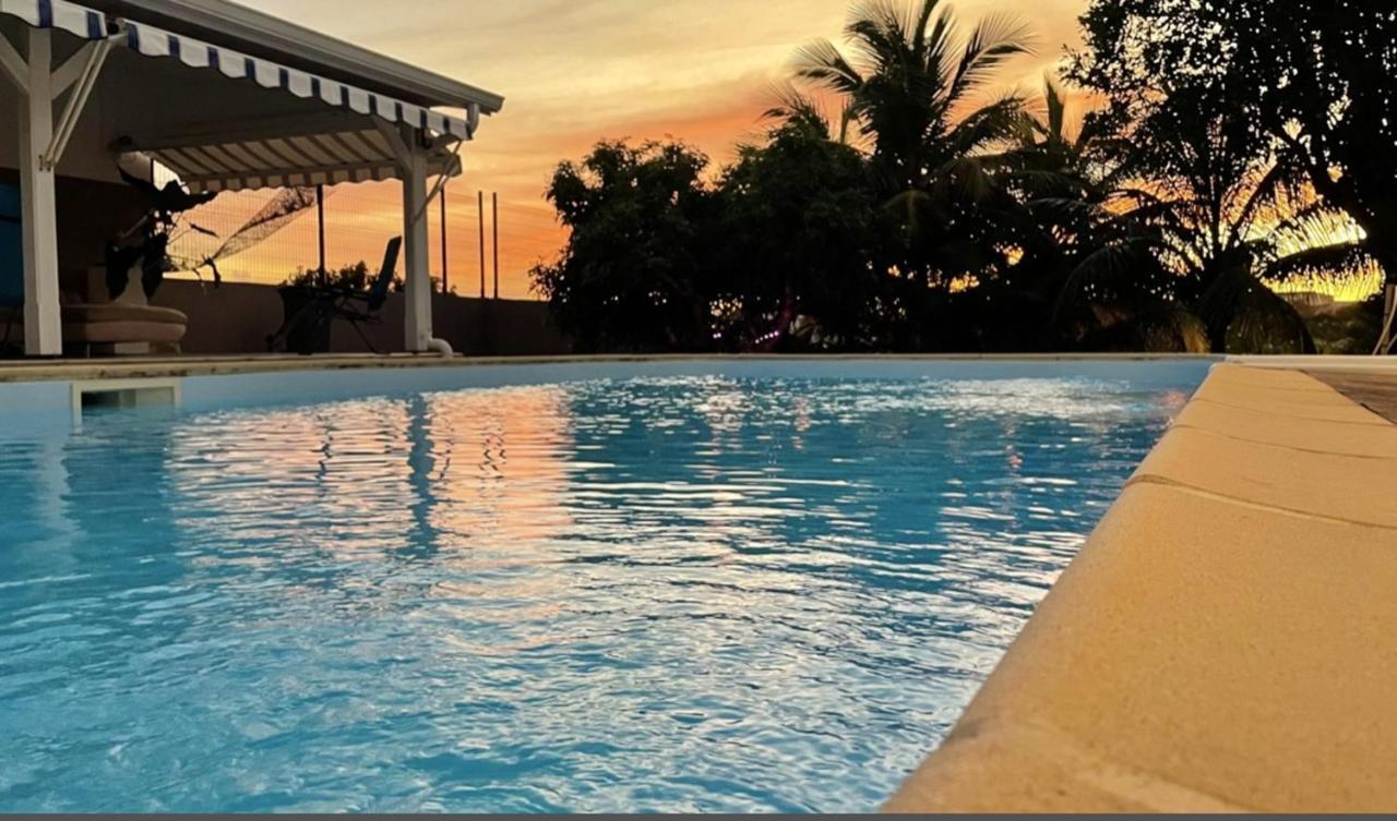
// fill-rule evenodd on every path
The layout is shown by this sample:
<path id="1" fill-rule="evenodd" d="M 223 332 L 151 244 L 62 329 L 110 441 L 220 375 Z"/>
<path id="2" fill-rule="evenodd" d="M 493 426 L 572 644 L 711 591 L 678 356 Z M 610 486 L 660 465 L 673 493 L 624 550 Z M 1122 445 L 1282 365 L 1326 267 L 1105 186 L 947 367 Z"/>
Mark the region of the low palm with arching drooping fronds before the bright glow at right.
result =
<path id="1" fill-rule="evenodd" d="M 1352 269 L 1366 253 L 1334 230 L 1347 218 L 1315 195 L 1299 158 L 1208 91 L 1175 92 L 1134 130 L 1132 155 L 1122 173 L 1141 182 L 1091 205 L 1099 244 L 1059 310 L 1094 303 L 1140 324 L 1185 309 L 1217 352 L 1313 350 L 1267 282 Z"/>

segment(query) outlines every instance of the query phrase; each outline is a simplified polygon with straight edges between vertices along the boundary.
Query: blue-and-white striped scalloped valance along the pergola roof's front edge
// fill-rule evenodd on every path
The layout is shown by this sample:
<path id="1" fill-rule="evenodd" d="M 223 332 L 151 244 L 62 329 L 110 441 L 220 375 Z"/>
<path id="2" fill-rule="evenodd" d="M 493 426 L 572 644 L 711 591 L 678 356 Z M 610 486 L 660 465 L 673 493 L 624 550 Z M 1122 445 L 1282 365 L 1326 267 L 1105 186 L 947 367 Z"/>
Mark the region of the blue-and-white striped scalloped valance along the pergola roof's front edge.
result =
<path id="1" fill-rule="evenodd" d="M 479 121 L 478 109 L 469 110 L 467 119 L 453 117 L 144 22 L 109 21 L 103 14 L 67 0 L 0 0 L 0 14 L 18 17 L 35 28 L 61 29 L 89 40 L 124 31 L 124 45 L 147 57 L 170 57 L 193 68 L 217 70 L 225 77 L 250 80 L 263 88 L 281 89 L 300 99 L 316 99 L 341 110 L 458 140 L 471 140 Z"/>

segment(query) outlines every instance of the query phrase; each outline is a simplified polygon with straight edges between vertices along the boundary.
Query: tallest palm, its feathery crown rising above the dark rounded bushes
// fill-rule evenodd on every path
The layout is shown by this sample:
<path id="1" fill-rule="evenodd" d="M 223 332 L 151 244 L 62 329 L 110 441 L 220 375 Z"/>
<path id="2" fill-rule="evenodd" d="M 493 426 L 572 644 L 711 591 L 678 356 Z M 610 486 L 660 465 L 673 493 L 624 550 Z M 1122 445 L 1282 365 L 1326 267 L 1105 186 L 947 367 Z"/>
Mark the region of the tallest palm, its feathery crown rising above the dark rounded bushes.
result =
<path id="1" fill-rule="evenodd" d="M 796 54 L 796 77 L 840 95 L 870 154 L 887 209 L 904 229 L 893 261 L 922 285 L 1003 264 L 981 208 L 1002 195 L 996 149 L 1020 128 L 1023 101 L 978 102 L 996 68 L 1030 52 L 1017 20 L 990 15 L 963 34 L 940 0 L 869 0 L 828 40 Z"/>

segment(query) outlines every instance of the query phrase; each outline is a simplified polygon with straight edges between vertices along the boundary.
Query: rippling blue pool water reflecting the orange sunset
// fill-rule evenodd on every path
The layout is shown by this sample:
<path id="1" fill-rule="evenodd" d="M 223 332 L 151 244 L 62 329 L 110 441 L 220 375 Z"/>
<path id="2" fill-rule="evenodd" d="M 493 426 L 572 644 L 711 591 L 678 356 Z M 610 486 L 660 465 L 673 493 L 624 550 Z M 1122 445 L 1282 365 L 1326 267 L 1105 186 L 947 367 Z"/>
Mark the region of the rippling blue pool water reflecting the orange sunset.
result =
<path id="1" fill-rule="evenodd" d="M 872 810 L 1204 369 L 0 426 L 0 811 Z"/>

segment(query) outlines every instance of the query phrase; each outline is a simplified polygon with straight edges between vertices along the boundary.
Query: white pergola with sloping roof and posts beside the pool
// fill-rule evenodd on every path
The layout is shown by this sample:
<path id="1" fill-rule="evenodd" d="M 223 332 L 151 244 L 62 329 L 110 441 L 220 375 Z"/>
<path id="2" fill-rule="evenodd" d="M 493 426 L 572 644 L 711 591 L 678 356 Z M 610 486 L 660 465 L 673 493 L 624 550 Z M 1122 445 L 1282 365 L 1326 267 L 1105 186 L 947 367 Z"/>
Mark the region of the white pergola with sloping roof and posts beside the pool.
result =
<path id="1" fill-rule="evenodd" d="M 17 169 L 22 193 L 28 355 L 63 350 L 54 179 L 116 180 L 129 151 L 191 190 L 402 180 L 404 346 L 450 352 L 432 334 L 426 211 L 503 98 L 226 0 L 0 0 L 0 75 L 11 91 L 0 82 L 0 117 L 8 103 L 15 123 L 15 155 L 7 162 L 0 144 L 0 166 Z"/>

